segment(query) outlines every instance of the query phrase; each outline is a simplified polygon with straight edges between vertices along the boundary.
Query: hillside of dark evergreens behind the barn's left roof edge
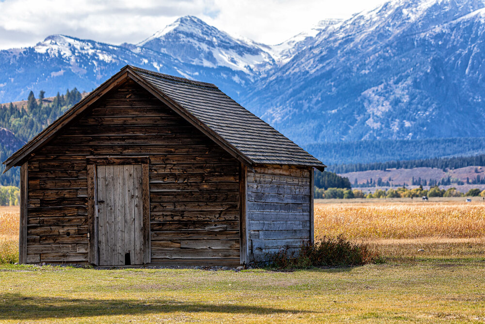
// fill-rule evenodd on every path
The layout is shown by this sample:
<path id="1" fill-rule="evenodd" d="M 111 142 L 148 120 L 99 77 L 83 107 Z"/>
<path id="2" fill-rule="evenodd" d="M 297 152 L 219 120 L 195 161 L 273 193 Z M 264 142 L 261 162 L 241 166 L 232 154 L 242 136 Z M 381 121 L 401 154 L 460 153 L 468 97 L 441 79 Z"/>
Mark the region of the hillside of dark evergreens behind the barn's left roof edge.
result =
<path id="1" fill-rule="evenodd" d="M 0 159 L 3 162 L 18 150 L 25 142 L 37 135 L 68 108 L 81 100 L 81 93 L 74 88 L 64 95 L 47 100 L 44 91 L 39 92 L 39 99 L 31 91 L 25 106 L 0 104 Z M 3 171 L 3 167 L 1 168 Z M 19 170 L 13 168 L 0 174 L 1 186 L 18 186 Z M 0 172 L 1 173 L 1 172 Z"/>

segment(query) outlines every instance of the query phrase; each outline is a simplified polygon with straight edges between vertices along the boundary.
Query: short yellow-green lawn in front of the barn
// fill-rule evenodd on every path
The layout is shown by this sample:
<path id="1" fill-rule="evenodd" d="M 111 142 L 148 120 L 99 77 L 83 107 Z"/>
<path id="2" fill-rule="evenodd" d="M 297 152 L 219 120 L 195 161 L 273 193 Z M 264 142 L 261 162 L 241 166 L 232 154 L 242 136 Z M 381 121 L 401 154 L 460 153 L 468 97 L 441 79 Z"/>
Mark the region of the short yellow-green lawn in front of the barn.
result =
<path id="1" fill-rule="evenodd" d="M 485 259 L 356 268 L 0 266 L 1 322 L 485 322 Z"/>

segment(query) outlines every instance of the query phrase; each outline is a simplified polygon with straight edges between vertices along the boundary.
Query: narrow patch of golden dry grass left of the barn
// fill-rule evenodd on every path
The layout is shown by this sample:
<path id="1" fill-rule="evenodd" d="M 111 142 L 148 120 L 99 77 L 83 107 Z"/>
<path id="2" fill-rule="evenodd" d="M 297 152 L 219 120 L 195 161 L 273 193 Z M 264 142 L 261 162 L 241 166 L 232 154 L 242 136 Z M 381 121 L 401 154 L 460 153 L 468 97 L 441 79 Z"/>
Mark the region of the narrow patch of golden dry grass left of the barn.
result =
<path id="1" fill-rule="evenodd" d="M 18 206 L 0 207 L 0 264 L 18 261 Z"/>

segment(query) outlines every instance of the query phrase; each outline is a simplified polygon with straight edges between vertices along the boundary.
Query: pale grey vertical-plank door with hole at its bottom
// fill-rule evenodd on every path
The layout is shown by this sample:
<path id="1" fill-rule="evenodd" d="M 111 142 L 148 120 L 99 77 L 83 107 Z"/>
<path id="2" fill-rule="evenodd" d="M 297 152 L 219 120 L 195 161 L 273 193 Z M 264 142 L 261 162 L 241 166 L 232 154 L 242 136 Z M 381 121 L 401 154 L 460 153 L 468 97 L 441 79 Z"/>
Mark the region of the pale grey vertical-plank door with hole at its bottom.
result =
<path id="1" fill-rule="evenodd" d="M 143 264 L 142 165 L 97 165 L 99 265 Z"/>

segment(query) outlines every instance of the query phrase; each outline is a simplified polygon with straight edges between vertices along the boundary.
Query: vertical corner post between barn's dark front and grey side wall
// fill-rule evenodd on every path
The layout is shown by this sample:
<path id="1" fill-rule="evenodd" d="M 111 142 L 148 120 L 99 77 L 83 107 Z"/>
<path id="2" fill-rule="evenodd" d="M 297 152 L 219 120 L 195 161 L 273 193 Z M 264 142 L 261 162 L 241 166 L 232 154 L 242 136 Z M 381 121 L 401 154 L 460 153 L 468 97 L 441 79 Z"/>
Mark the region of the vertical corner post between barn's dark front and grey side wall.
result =
<path id="1" fill-rule="evenodd" d="M 248 245 L 247 245 L 247 167 L 240 164 L 239 174 L 239 220 L 240 220 L 240 262 L 248 263 Z"/>

